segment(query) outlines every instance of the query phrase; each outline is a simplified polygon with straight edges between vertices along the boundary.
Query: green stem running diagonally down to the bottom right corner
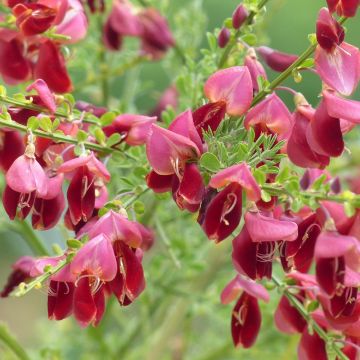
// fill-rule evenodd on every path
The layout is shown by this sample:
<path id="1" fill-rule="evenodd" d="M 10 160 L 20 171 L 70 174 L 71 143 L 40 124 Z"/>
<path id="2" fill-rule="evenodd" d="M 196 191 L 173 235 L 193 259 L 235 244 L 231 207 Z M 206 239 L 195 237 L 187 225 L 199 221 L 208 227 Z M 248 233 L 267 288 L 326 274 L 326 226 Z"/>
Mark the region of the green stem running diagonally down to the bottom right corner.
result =
<path id="1" fill-rule="evenodd" d="M 331 349 L 336 353 L 339 359 L 341 360 L 348 360 L 347 356 L 336 346 L 336 343 L 331 339 L 326 331 L 318 325 L 311 317 L 311 315 L 307 312 L 303 304 L 296 298 L 295 295 L 293 295 L 289 290 L 286 288 L 286 285 L 283 284 L 279 279 L 277 279 L 276 276 L 272 276 L 272 280 L 274 284 L 282 290 L 282 293 L 284 296 L 287 297 L 289 302 L 292 304 L 293 307 L 296 308 L 296 310 L 300 313 L 300 315 L 306 320 L 306 322 L 311 324 L 311 327 L 314 329 L 314 331 L 325 341 L 326 344 L 328 344 Z"/>

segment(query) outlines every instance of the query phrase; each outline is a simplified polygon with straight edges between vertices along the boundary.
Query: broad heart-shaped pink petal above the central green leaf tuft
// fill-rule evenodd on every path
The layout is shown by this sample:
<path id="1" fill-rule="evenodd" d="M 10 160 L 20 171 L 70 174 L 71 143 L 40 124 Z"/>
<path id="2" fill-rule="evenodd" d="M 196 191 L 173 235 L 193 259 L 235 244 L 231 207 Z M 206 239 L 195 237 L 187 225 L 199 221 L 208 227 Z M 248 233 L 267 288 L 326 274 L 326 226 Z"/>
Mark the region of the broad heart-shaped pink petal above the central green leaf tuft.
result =
<path id="1" fill-rule="evenodd" d="M 211 75 L 204 86 L 205 96 L 211 102 L 225 101 L 226 112 L 241 116 L 250 107 L 253 84 L 245 66 L 234 66 Z"/>

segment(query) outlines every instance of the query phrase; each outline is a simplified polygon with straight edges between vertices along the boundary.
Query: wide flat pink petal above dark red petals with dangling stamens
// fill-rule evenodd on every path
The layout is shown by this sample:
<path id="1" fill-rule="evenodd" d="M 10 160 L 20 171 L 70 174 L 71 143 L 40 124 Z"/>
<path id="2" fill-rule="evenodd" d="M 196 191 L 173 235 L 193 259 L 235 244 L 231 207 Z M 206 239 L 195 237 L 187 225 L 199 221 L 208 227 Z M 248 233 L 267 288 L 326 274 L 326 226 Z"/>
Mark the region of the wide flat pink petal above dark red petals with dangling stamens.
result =
<path id="1" fill-rule="evenodd" d="M 298 236 L 296 223 L 267 217 L 260 212 L 248 211 L 245 214 L 245 224 L 254 242 L 293 241 Z"/>

